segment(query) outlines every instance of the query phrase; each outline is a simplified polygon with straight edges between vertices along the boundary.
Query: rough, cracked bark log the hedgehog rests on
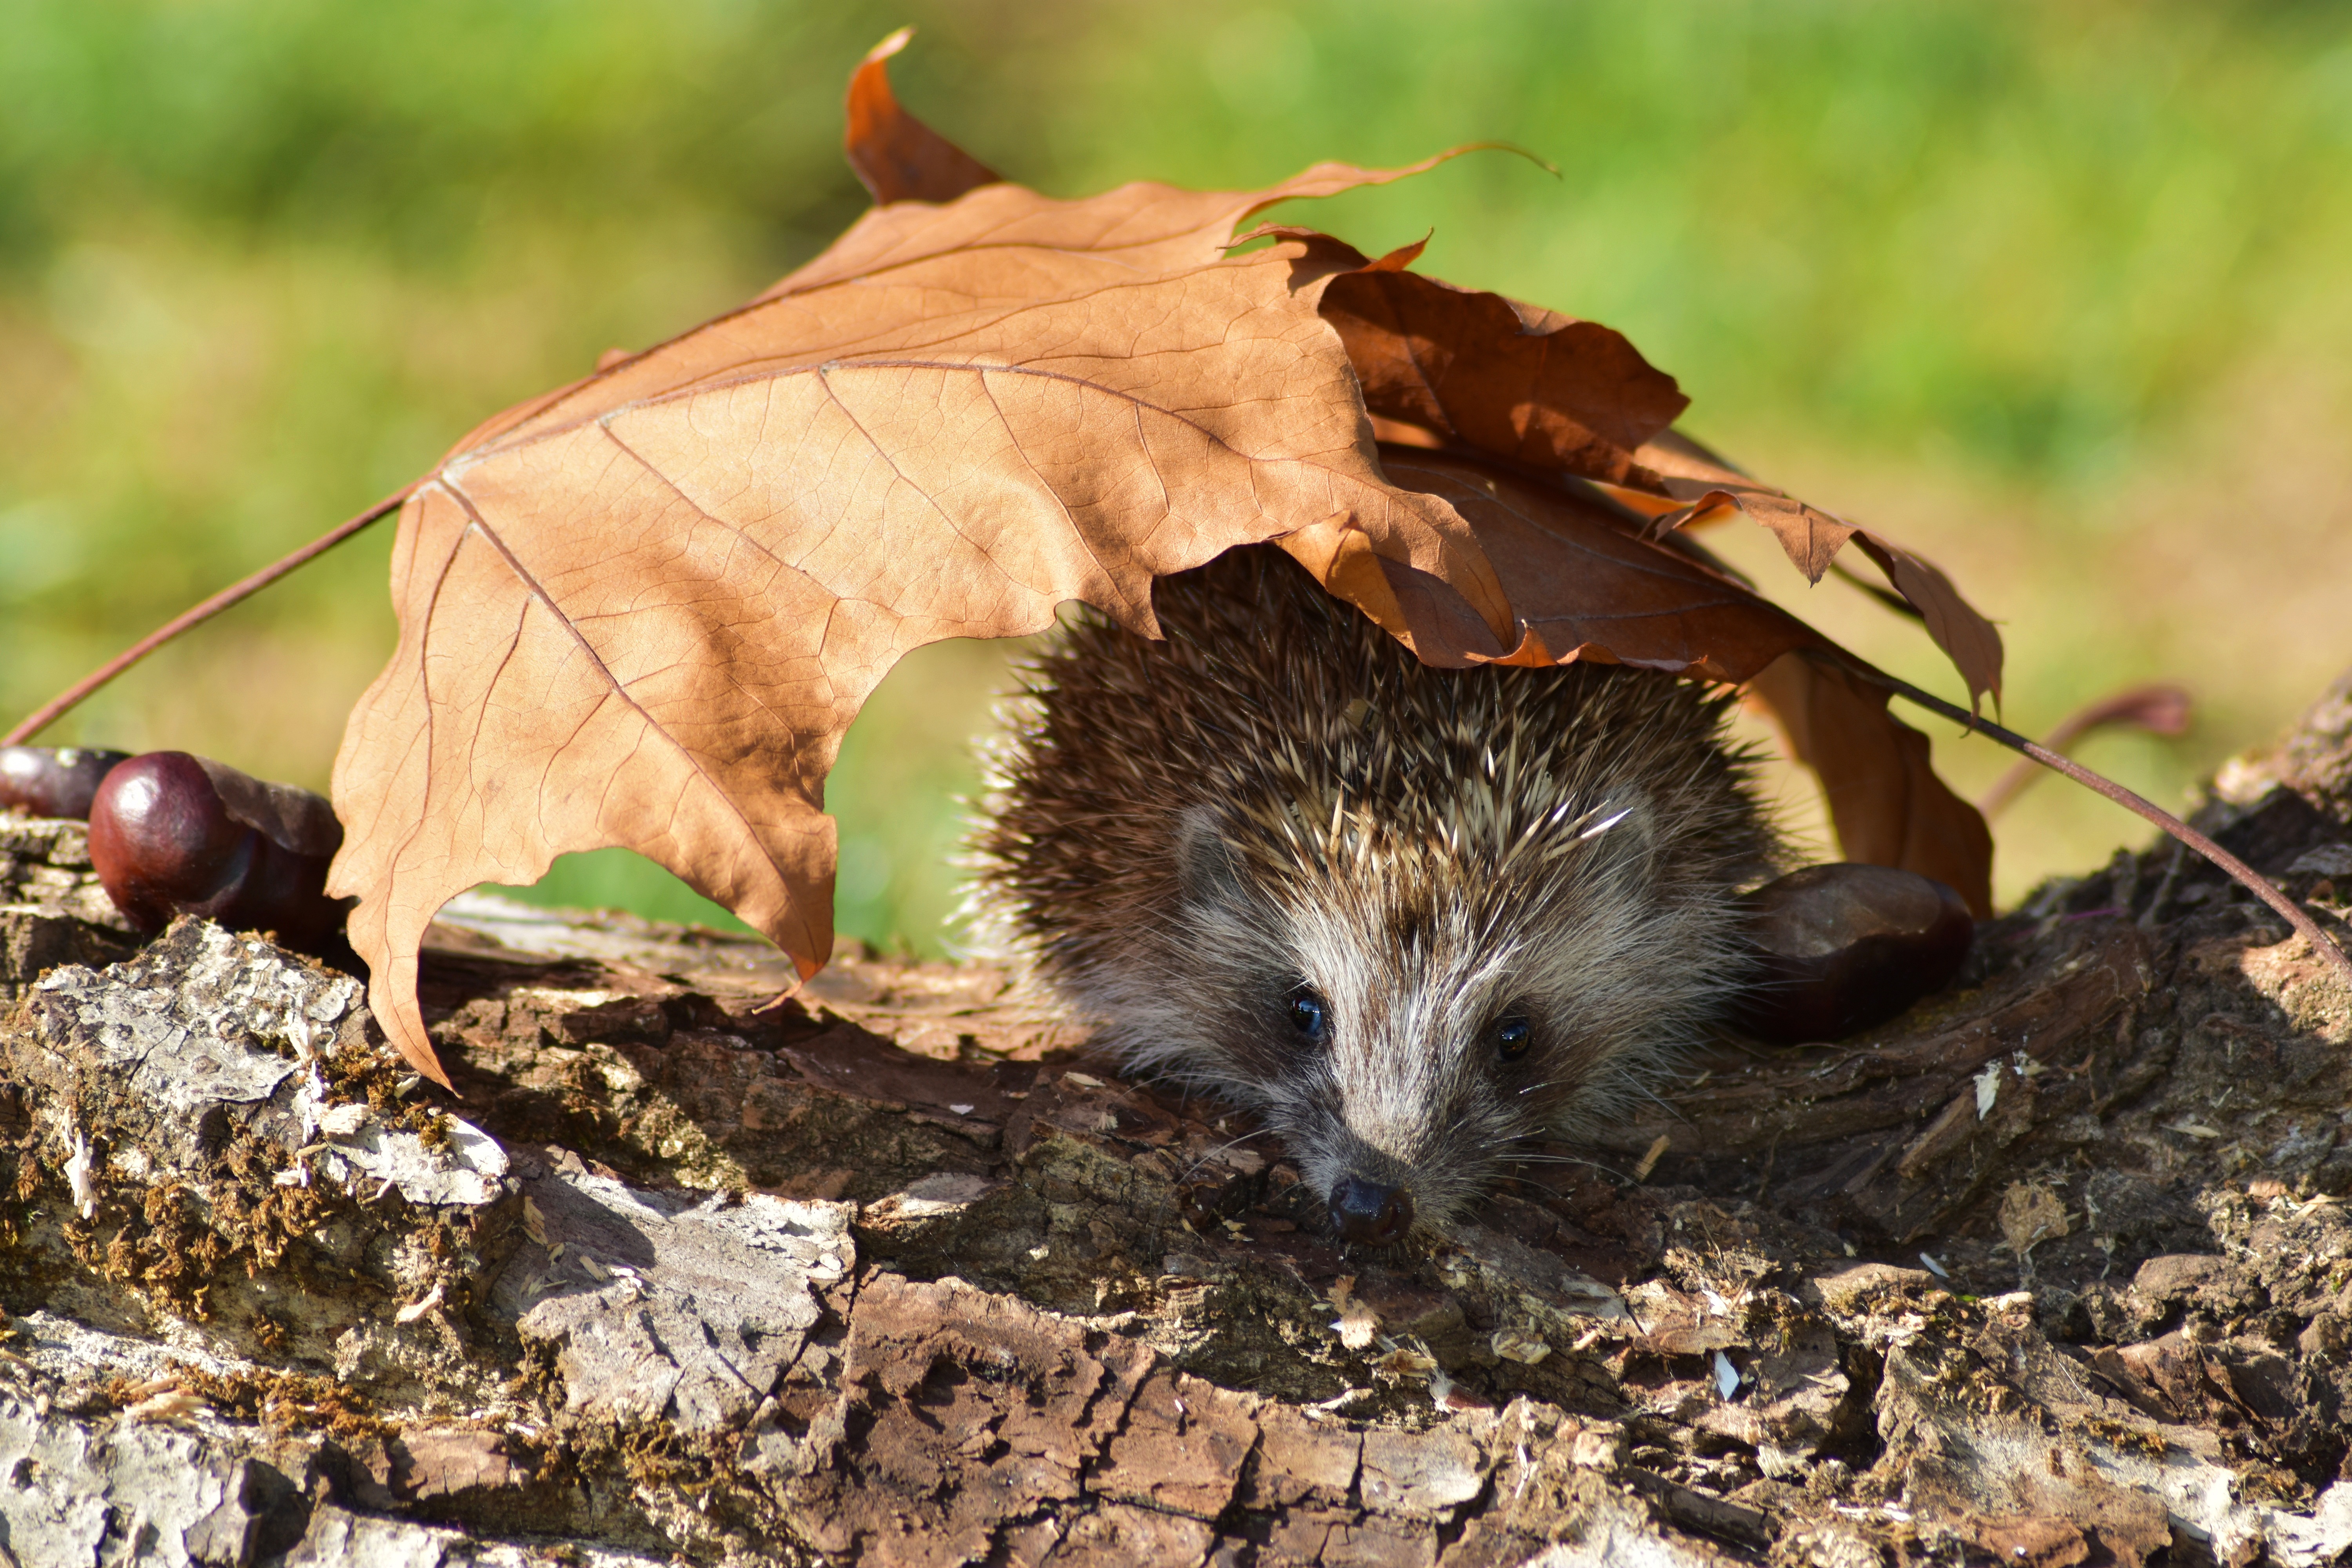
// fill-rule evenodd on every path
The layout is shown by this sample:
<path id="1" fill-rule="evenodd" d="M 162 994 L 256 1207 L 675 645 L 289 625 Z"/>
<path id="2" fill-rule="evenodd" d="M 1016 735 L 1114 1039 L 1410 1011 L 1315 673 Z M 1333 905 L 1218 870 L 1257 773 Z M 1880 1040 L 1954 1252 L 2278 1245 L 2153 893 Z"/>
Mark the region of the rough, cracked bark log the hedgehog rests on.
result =
<path id="1" fill-rule="evenodd" d="M 2338 931 L 2345 715 L 2204 813 Z M 2169 846 L 1383 1255 L 990 969 L 468 898 L 449 1100 L 0 856 L 0 1563 L 2352 1561 L 2352 994 Z"/>

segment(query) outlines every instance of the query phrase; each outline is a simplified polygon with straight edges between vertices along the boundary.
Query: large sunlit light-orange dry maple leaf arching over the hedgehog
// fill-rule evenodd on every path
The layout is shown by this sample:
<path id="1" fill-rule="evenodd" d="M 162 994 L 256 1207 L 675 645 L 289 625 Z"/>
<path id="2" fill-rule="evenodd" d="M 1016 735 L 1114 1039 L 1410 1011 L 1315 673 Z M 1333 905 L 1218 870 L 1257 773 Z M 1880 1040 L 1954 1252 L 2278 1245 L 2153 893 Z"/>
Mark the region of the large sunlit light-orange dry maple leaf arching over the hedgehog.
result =
<path id="1" fill-rule="evenodd" d="M 896 244 L 720 317 L 496 421 L 409 496 L 400 646 L 336 759 L 334 886 L 419 1065 L 435 910 L 564 851 L 635 849 L 814 973 L 823 778 L 913 646 L 1035 632 L 1065 599 L 1150 632 L 1155 576 L 1331 520 L 1512 625 L 1463 522 L 1381 475 L 1303 247 L 1188 240 L 1192 193 L 1169 216 L 1136 188 L 988 186 L 946 214 L 971 205 L 988 244 Z M 1138 226 L 1164 270 L 1120 254 Z"/>

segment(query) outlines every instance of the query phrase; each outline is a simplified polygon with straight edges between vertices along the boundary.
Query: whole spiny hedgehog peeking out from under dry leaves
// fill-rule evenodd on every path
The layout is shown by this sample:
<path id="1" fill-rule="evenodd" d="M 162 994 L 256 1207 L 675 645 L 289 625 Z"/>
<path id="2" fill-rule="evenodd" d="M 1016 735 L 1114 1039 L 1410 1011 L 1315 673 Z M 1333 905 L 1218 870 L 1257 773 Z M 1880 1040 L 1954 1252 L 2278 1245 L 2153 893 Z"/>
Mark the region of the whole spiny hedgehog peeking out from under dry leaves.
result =
<path id="1" fill-rule="evenodd" d="M 1722 691 L 1423 665 L 1275 545 L 1152 609 L 1028 663 L 974 905 L 1129 1070 L 1279 1135 L 1341 1239 L 1444 1225 L 1722 1016 L 1780 860 Z"/>

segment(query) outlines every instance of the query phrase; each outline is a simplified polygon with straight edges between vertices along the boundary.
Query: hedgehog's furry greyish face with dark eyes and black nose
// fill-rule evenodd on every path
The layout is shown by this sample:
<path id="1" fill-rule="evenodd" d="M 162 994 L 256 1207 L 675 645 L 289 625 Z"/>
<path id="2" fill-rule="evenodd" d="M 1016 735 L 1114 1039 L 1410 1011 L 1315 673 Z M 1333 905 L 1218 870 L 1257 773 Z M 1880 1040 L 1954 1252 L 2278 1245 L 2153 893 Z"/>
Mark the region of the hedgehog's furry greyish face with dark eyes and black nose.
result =
<path id="1" fill-rule="evenodd" d="M 1338 820 L 1185 820 L 1169 966 L 1200 985 L 1152 1053 L 1258 1110 L 1338 1234 L 1385 1246 L 1613 1110 L 1710 1009 L 1722 931 L 1661 898 L 1639 797 L 1501 846 Z"/>

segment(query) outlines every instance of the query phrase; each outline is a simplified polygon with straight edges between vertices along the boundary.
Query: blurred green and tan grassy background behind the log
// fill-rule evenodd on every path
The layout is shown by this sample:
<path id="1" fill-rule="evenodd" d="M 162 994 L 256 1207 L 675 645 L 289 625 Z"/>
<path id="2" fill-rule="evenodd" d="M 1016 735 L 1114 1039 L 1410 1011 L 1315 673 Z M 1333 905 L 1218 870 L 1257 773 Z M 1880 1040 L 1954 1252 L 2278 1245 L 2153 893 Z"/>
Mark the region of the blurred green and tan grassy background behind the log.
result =
<path id="1" fill-rule="evenodd" d="M 12 0 L 0 708 L 823 247 L 863 207 L 840 87 L 903 21 L 901 96 L 1051 193 L 1472 139 L 1557 162 L 1468 158 L 1294 216 L 1364 249 L 1435 228 L 1425 270 L 1628 331 L 1689 430 L 2004 623 L 2016 726 L 2190 684 L 2185 741 L 2086 748 L 2159 802 L 2352 663 L 2340 5 Z M 1715 538 L 1957 693 L 1853 590 Z M 325 788 L 390 651 L 388 548 L 362 536 L 47 738 Z M 851 733 L 844 931 L 941 947 L 1004 656 L 917 656 Z M 1936 745 L 1971 795 L 2006 762 Z M 2140 837 L 2046 783 L 1999 823 L 2002 896 Z M 534 896 L 708 910 L 616 851 Z"/>

